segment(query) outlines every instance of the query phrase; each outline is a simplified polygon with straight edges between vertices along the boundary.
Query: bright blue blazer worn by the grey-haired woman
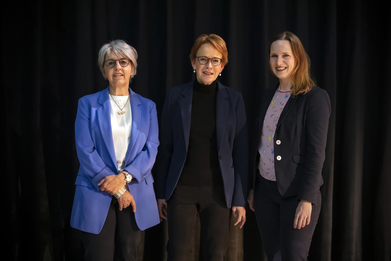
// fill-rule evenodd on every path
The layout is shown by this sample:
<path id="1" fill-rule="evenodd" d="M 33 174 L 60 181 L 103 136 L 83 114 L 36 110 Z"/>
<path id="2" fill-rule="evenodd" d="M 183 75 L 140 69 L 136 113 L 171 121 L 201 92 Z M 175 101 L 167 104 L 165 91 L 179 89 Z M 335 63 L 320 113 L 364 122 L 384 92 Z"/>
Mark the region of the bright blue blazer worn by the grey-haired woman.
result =
<path id="1" fill-rule="evenodd" d="M 98 234 L 103 227 L 112 195 L 100 191 L 99 181 L 117 175 L 110 121 L 109 88 L 79 99 L 75 141 L 80 168 L 76 178 L 71 227 Z M 136 223 L 141 230 L 158 223 L 152 166 L 158 152 L 158 120 L 155 104 L 130 88 L 132 129 L 125 170 L 134 178 L 128 184 L 136 202 Z"/>

